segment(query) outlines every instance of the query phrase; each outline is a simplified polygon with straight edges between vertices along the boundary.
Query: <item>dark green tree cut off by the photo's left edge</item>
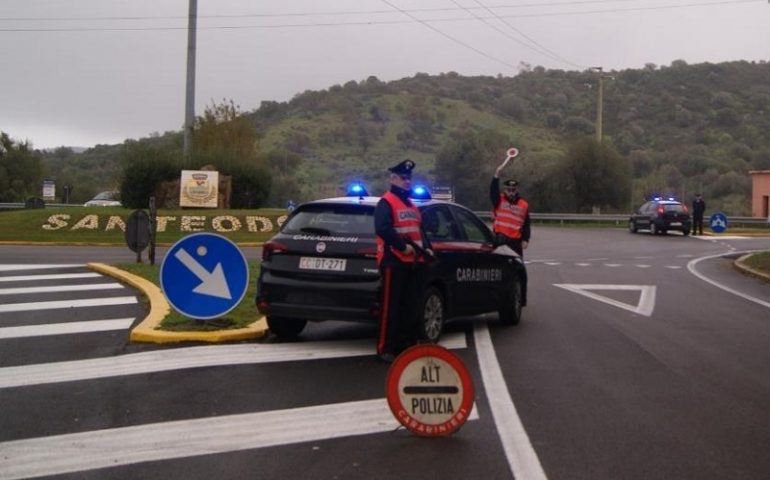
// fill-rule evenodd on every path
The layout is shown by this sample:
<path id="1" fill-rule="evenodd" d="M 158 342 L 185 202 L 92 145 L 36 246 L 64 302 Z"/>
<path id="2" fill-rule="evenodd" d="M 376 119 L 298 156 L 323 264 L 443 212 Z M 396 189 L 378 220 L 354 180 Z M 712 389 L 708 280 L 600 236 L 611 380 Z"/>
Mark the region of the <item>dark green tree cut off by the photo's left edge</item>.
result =
<path id="1" fill-rule="evenodd" d="M 29 142 L 18 142 L 0 132 L 0 202 L 23 202 L 39 196 L 43 161 Z"/>

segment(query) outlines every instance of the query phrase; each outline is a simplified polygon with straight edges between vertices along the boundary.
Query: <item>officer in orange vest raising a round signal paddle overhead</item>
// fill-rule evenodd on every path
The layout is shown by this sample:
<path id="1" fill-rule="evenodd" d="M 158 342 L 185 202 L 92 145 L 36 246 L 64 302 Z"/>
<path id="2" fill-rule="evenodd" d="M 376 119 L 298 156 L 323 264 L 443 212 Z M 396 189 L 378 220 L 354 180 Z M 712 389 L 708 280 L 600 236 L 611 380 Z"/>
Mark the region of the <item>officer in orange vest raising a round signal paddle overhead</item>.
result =
<path id="1" fill-rule="evenodd" d="M 489 186 L 489 199 L 492 202 L 492 230 L 495 232 L 497 243 L 508 245 L 514 252 L 524 257 L 524 250 L 529 246 L 531 233 L 529 220 L 529 203 L 519 195 L 519 182 L 506 180 L 500 191 L 500 172 L 508 161 L 518 155 L 518 150 L 510 149 L 503 163 L 495 170 L 492 183 Z M 522 282 L 524 296 L 522 305 L 527 304 L 527 275 L 526 270 Z"/>

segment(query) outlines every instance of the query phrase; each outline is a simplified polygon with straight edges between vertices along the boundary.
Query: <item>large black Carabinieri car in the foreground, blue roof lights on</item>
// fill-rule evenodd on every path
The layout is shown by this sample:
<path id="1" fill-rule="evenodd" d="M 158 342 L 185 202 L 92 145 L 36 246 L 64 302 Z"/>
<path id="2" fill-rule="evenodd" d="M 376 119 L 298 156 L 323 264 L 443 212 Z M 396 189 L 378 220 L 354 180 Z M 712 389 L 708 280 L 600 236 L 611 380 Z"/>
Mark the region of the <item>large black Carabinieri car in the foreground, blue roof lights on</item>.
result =
<path id="1" fill-rule="evenodd" d="M 380 274 L 374 209 L 379 197 L 351 196 L 302 204 L 264 245 L 257 307 L 278 337 L 299 335 L 308 321 L 379 321 Z M 484 222 L 460 205 L 415 202 L 437 261 L 420 292 L 420 333 L 438 340 L 451 318 L 498 312 L 521 318 L 521 258 L 496 246 Z"/>

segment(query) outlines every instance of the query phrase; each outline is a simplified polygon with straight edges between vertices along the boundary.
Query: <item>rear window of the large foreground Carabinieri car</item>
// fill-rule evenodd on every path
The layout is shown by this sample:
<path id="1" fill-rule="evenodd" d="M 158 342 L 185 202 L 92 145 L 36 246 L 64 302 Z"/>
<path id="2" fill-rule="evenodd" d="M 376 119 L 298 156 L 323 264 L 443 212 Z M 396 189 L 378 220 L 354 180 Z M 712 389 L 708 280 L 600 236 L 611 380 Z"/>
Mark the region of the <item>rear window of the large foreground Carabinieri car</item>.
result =
<path id="1" fill-rule="evenodd" d="M 363 205 L 307 205 L 295 211 L 281 230 L 292 234 L 374 237 L 374 208 Z"/>

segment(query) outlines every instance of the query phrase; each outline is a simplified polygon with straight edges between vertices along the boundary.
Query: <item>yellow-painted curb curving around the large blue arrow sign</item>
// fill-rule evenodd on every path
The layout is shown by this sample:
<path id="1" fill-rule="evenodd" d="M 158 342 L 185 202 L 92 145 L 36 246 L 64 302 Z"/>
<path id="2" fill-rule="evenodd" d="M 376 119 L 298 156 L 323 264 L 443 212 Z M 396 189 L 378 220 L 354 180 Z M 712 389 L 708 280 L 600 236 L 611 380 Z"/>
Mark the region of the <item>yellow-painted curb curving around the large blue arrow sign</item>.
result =
<path id="1" fill-rule="evenodd" d="M 89 263 L 88 268 L 96 272 L 109 275 L 124 283 L 127 283 L 144 293 L 150 303 L 150 313 L 142 322 L 131 330 L 129 339 L 131 342 L 146 343 L 177 343 L 177 342 L 229 342 L 236 340 L 250 340 L 262 338 L 267 335 L 267 322 L 261 317 L 248 327 L 232 330 L 216 330 L 213 332 L 172 332 L 159 330 L 160 322 L 171 312 L 171 306 L 154 283 L 132 273 L 104 263 Z"/>

